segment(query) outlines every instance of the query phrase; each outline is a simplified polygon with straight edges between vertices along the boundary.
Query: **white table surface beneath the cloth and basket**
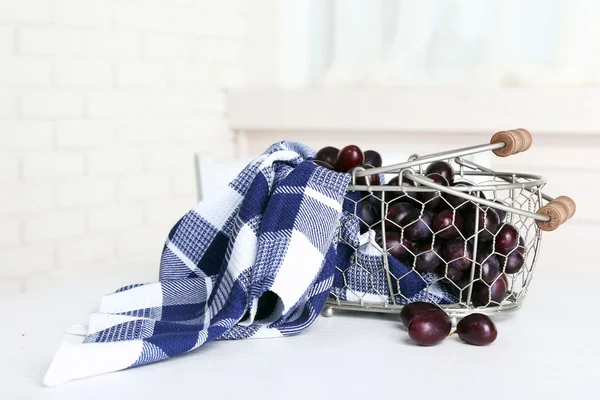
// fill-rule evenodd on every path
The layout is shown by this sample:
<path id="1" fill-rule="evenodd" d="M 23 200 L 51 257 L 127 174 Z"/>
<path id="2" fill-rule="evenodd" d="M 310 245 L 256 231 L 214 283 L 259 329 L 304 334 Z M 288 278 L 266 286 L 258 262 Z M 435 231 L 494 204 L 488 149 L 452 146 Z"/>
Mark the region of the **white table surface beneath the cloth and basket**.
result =
<path id="1" fill-rule="evenodd" d="M 213 342 L 161 363 L 44 387 L 68 326 L 87 323 L 103 294 L 156 279 L 152 266 L 119 267 L 0 302 L 0 398 L 596 399 L 599 278 L 539 272 L 524 307 L 494 318 L 499 335 L 487 347 L 456 336 L 420 347 L 396 317 L 338 312 L 295 337 Z"/>

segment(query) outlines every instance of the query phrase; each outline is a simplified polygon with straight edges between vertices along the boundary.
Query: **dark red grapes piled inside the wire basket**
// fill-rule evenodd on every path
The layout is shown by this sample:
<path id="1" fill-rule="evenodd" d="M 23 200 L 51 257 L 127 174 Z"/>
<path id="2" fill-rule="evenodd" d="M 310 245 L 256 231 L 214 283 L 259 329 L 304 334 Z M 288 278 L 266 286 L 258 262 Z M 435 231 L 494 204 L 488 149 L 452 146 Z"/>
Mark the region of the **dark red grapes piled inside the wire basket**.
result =
<path id="1" fill-rule="evenodd" d="M 356 145 L 341 150 L 329 146 L 319 150 L 315 163 L 348 173 L 356 167 L 380 167 L 382 159 L 378 152 L 363 152 Z M 455 181 L 454 169 L 444 161 L 430 163 L 424 175 L 442 186 L 470 185 Z M 367 183 L 380 185 L 383 182 L 378 174 L 356 181 L 357 185 Z M 416 186 L 404 177 L 403 183 Z M 517 228 L 507 222 L 506 212 L 450 194 L 411 192 L 410 188 L 402 191 L 398 184 L 396 176 L 385 185 L 398 187 L 398 190 L 365 193 L 358 211 L 361 233 L 373 230 L 376 243 L 391 256 L 412 265 L 420 274 L 435 273 L 451 283 L 461 301 L 467 301 L 470 291 L 470 300 L 475 307 L 501 303 L 509 289 L 507 274 L 518 273 L 525 263 L 523 239 Z M 486 198 L 483 192 L 472 194 Z M 385 199 L 383 208 L 382 199 Z M 494 202 L 502 204 L 498 200 Z M 385 234 L 382 234 L 382 225 Z M 471 279 L 473 261 L 476 270 Z"/>

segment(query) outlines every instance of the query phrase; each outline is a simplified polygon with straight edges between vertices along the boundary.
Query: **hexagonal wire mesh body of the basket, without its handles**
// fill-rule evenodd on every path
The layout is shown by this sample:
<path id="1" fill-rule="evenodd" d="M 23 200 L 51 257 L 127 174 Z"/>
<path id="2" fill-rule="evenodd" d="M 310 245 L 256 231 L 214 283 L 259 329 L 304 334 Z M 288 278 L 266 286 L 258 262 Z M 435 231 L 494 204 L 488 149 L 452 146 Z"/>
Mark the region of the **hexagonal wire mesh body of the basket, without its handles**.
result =
<path id="1" fill-rule="evenodd" d="M 456 160 L 445 161 L 455 167 L 455 182 L 462 182 L 468 194 L 529 212 L 535 212 L 543 205 L 541 189 L 544 184 L 528 175 L 469 170 L 457 165 Z M 410 172 L 419 176 L 424 167 L 426 164 Z M 346 262 L 336 267 L 328 304 L 395 312 L 402 305 L 428 301 L 455 315 L 474 310 L 492 313 L 518 308 L 527 294 L 540 247 L 541 231 L 535 220 L 516 212 L 492 211 L 488 206 L 468 200 L 460 199 L 462 203 L 449 201 L 450 195 L 419 185 L 404 190 L 399 186 L 384 186 L 384 182 L 400 173 L 380 174 L 382 183 L 368 190 L 364 186 L 349 187 L 339 250 L 343 253 L 341 259 Z M 510 187 L 507 177 L 512 183 Z M 390 207 L 403 202 L 412 204 L 419 217 L 400 226 L 386 215 L 389 216 Z M 430 223 L 424 223 L 429 222 L 427 214 L 435 216 L 442 210 L 452 215 L 452 226 L 436 231 Z M 493 223 L 495 217 L 490 216 L 490 227 L 487 213 L 492 212 L 501 220 L 496 226 Z M 456 229 L 456 238 L 448 239 L 450 235 L 444 235 L 443 231 L 456 228 L 458 218 L 462 218 L 464 226 L 461 230 Z M 471 229 L 466 228 L 469 218 L 476 221 L 471 224 Z M 410 235 L 413 224 L 428 229 L 423 239 L 414 240 L 414 233 Z M 498 251 L 497 241 L 505 226 L 518 231 L 519 245 L 509 251 Z M 462 257 L 453 259 L 451 252 L 446 253 L 451 240 L 455 248 L 463 246 Z M 522 266 L 513 271 L 521 257 Z M 433 261 L 424 268 L 421 261 L 426 258 Z M 432 268 L 433 264 L 435 267 Z M 496 269 L 492 268 L 496 264 L 497 276 Z M 489 273 L 486 275 L 486 272 Z M 503 285 L 506 290 L 502 290 Z"/>

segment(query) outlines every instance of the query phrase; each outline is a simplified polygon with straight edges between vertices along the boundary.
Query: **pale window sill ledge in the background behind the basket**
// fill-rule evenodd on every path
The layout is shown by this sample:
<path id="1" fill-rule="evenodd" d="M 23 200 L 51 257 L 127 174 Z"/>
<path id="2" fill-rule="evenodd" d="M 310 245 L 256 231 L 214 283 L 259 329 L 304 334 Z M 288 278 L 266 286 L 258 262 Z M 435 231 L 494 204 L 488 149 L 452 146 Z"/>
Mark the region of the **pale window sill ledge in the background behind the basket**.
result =
<path id="1" fill-rule="evenodd" d="M 234 130 L 600 134 L 600 88 L 256 87 L 230 91 Z"/>

